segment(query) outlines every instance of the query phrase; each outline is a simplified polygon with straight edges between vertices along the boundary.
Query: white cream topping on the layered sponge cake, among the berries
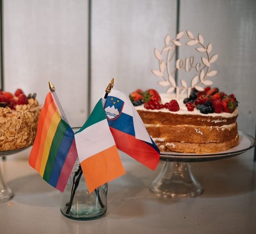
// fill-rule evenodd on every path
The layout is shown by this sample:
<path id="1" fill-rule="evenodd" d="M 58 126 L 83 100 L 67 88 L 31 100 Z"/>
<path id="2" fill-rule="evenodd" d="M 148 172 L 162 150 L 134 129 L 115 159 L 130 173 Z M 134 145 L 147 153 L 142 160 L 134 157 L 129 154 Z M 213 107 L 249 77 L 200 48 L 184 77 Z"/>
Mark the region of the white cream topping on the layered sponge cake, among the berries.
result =
<path id="1" fill-rule="evenodd" d="M 143 105 L 140 106 L 135 106 L 136 110 L 147 110 L 147 111 L 162 111 L 162 112 L 170 112 L 172 114 L 176 114 L 176 115 L 201 115 L 201 116 L 213 116 L 213 117 L 223 117 L 223 118 L 232 118 L 238 115 L 238 110 L 237 108 L 234 110 L 233 113 L 226 113 L 226 112 L 221 112 L 221 113 L 209 113 L 209 114 L 202 114 L 200 113 L 199 110 L 197 110 L 196 108 L 194 108 L 193 111 L 188 111 L 187 107 L 185 106 L 185 104 L 183 103 L 183 99 L 186 98 L 187 96 L 185 95 L 181 95 L 181 97 L 179 99 L 175 98 L 175 94 L 160 94 L 161 97 L 161 103 L 166 103 L 166 102 L 170 102 L 172 99 L 175 99 L 178 102 L 178 105 L 180 106 L 180 110 L 178 111 L 169 111 L 168 109 L 160 109 L 160 110 L 147 110 L 146 108 L 144 108 Z M 227 120 L 224 120 L 227 121 Z M 218 123 L 218 122 L 223 122 L 223 120 L 214 120 L 212 122 Z"/>

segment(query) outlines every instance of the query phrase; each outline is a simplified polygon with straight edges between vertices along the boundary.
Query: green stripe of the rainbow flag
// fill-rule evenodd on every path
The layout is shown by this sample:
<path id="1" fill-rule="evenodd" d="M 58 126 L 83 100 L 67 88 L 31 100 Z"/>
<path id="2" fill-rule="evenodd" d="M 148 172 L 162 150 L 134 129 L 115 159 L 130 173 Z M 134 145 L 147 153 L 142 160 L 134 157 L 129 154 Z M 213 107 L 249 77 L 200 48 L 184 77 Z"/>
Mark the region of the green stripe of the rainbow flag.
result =
<path id="1" fill-rule="evenodd" d="M 59 151 L 59 147 L 60 147 L 62 138 L 64 136 L 64 133 L 67 130 L 67 127 L 68 127 L 68 124 L 65 121 L 60 121 L 56 129 L 56 132 L 54 134 L 53 141 L 50 146 L 49 156 L 45 166 L 45 172 L 43 173 L 43 179 L 47 182 L 49 181 L 50 174 L 52 173 L 55 157 Z"/>

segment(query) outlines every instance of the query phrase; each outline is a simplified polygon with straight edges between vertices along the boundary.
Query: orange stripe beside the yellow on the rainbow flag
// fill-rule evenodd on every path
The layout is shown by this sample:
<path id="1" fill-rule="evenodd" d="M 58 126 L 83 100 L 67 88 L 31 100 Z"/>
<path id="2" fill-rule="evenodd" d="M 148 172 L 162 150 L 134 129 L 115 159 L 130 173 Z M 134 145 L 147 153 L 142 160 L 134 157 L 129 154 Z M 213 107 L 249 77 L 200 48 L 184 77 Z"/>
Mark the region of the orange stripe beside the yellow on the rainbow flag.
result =
<path id="1" fill-rule="evenodd" d="M 43 128 L 42 128 L 42 133 L 41 133 L 41 140 L 40 140 L 40 145 L 39 145 L 39 150 L 38 150 L 38 156 L 36 159 L 35 163 L 35 170 L 40 173 L 40 168 L 41 168 L 41 162 L 42 162 L 42 156 L 43 156 L 43 150 L 45 149 L 45 141 L 46 141 L 46 136 L 48 129 L 50 127 L 50 123 L 52 122 L 52 117 L 54 113 L 56 112 L 56 105 L 54 102 L 52 102 L 49 107 L 48 111 L 45 117 L 45 121 L 43 121 Z"/>

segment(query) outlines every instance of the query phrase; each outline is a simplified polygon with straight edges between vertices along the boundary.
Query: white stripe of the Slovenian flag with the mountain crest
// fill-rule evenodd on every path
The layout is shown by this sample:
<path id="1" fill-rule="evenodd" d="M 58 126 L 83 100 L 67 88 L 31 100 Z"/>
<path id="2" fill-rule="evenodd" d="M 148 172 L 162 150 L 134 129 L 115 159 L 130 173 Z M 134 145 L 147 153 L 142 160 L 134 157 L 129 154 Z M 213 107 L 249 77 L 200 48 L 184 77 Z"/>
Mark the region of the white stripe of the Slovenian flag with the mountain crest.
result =
<path id="1" fill-rule="evenodd" d="M 147 132 L 147 129 L 146 129 L 140 115 L 138 114 L 138 112 L 134 108 L 133 104 L 131 103 L 129 97 L 127 95 L 125 95 L 124 93 L 122 93 L 118 90 L 115 90 L 115 89 L 111 90 L 109 96 L 120 98 L 124 102 L 122 112 L 133 117 L 135 138 L 139 139 L 139 140 L 144 140 L 145 142 L 148 142 L 148 143 L 152 143 L 150 136 Z"/>

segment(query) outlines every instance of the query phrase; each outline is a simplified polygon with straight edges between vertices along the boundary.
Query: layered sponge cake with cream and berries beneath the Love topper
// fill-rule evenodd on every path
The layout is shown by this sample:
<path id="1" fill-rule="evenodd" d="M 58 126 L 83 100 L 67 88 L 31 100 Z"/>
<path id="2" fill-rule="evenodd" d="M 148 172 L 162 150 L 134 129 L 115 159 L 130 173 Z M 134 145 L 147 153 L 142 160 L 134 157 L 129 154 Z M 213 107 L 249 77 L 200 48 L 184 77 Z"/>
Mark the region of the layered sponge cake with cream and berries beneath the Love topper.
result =
<path id="1" fill-rule="evenodd" d="M 176 99 L 150 89 L 136 90 L 130 99 L 162 152 L 215 153 L 238 144 L 234 94 L 206 87 Z"/>

